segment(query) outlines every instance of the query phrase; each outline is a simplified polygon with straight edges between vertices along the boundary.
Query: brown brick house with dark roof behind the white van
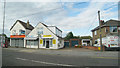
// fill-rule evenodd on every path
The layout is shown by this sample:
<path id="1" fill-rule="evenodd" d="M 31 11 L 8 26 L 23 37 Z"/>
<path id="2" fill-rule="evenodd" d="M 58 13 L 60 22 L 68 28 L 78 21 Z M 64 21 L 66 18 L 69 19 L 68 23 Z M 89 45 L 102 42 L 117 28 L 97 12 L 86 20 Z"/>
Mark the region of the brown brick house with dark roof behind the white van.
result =
<path id="1" fill-rule="evenodd" d="M 95 40 L 100 38 L 100 26 L 97 26 L 92 31 L 93 40 L 92 44 L 95 43 Z M 101 21 L 101 35 L 102 38 L 110 35 L 120 36 L 120 21 L 118 20 L 108 20 L 106 22 Z"/>

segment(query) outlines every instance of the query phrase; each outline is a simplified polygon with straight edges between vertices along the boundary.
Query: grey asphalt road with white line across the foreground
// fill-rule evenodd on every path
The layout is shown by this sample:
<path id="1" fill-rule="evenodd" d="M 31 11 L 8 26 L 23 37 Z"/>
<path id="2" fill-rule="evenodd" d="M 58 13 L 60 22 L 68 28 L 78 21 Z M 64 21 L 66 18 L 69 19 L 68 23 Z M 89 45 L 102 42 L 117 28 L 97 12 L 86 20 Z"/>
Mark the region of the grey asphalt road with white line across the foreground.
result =
<path id="1" fill-rule="evenodd" d="M 3 49 L 2 66 L 118 66 L 118 59 L 37 54 Z"/>

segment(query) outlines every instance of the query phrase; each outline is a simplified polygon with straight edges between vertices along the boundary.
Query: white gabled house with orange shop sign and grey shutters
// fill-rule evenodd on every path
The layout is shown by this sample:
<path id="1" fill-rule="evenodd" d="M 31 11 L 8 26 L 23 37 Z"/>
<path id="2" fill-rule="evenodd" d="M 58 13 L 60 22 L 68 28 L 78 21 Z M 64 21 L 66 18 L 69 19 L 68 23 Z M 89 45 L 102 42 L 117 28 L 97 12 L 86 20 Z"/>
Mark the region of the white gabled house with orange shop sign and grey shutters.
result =
<path id="1" fill-rule="evenodd" d="M 10 28 L 10 46 L 25 47 L 24 38 L 34 29 L 34 27 L 27 23 L 17 20 Z"/>

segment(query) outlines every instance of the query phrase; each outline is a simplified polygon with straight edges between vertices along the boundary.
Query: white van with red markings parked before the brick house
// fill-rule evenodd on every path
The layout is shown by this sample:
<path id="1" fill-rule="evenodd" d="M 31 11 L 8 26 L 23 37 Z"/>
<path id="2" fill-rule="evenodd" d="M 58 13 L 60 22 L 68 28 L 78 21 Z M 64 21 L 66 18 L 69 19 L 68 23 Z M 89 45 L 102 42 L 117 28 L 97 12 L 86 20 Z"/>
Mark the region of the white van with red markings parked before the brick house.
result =
<path id="1" fill-rule="evenodd" d="M 119 45 L 120 37 L 119 36 L 106 36 L 102 38 L 102 45 L 106 49 L 120 49 Z M 95 40 L 94 46 L 100 47 L 100 39 Z"/>

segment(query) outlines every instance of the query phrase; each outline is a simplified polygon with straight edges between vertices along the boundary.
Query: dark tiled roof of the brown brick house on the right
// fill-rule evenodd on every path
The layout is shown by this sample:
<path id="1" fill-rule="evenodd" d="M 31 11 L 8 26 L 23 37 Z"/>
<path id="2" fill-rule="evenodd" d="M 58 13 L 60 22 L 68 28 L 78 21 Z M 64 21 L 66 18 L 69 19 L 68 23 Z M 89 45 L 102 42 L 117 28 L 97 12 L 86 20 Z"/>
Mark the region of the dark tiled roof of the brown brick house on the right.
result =
<path id="1" fill-rule="evenodd" d="M 106 27 L 106 26 L 120 26 L 120 21 L 118 20 L 108 20 L 105 22 L 104 25 L 101 26 L 102 27 Z M 96 28 L 94 28 L 93 30 L 91 30 L 92 32 L 95 30 L 98 30 L 100 28 L 100 26 L 97 26 Z"/>

